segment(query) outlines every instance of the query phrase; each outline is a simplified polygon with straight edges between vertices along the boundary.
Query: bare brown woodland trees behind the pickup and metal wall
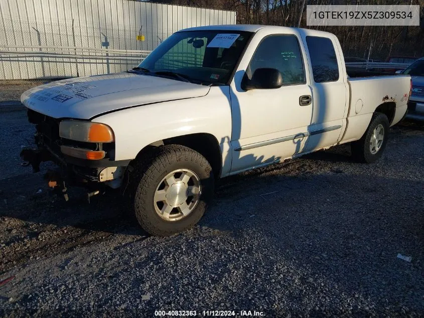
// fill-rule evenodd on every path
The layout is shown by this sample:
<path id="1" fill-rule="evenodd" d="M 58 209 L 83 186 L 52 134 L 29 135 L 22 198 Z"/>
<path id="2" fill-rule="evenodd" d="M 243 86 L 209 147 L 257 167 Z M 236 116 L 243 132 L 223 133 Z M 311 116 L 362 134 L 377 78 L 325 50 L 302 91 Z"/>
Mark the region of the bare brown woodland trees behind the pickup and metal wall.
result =
<path id="1" fill-rule="evenodd" d="M 153 2 L 231 10 L 237 12 L 237 23 L 273 24 L 313 28 L 336 34 L 345 56 L 368 56 L 385 60 L 389 55 L 420 57 L 424 55 L 424 19 L 421 27 L 362 27 L 306 25 L 307 5 L 386 5 L 386 0 L 158 0 Z M 424 16 L 424 0 L 394 0 L 391 5 L 419 5 Z"/>

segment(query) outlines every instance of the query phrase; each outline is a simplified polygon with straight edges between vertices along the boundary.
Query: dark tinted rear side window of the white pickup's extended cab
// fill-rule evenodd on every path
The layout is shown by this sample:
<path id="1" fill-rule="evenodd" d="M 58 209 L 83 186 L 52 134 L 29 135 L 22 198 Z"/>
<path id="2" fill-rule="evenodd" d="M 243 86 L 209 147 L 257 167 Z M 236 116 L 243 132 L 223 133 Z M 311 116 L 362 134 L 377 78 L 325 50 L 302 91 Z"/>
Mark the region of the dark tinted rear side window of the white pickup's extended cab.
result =
<path id="1" fill-rule="evenodd" d="M 334 82 L 339 79 L 339 66 L 333 43 L 328 38 L 306 37 L 311 56 L 312 72 L 316 83 Z"/>

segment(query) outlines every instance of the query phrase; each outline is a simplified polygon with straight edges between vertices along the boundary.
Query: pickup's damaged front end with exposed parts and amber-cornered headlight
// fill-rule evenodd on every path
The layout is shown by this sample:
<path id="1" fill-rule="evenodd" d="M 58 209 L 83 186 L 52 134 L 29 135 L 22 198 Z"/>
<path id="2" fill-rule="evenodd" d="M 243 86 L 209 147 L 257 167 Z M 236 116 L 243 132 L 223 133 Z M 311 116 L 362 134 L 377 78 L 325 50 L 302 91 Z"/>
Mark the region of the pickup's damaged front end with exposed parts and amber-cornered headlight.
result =
<path id="1" fill-rule="evenodd" d="M 65 199 L 67 186 L 71 185 L 86 187 L 90 191 L 88 198 L 99 193 L 104 185 L 120 186 L 129 161 L 113 160 L 115 144 L 110 128 L 88 121 L 61 121 L 30 109 L 28 120 L 36 126 L 36 148 L 21 151 L 24 165 L 31 165 L 33 172 L 39 172 L 42 162 L 54 162 L 58 169 L 49 170 L 45 179 Z M 97 128 L 91 129 L 96 125 Z"/>

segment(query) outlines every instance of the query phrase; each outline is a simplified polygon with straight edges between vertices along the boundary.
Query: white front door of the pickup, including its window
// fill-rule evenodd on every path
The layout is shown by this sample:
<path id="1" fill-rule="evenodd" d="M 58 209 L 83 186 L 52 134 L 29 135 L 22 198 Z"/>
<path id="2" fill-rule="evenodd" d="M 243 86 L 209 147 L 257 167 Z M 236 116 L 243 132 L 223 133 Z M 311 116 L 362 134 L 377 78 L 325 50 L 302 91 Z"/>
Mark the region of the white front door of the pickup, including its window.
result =
<path id="1" fill-rule="evenodd" d="M 260 41 L 257 49 L 250 56 L 246 51 L 230 86 L 232 174 L 301 153 L 313 114 L 305 51 L 298 35 L 268 35 L 256 41 Z M 250 46 L 254 45 L 253 38 Z M 278 69 L 282 87 L 241 89 L 244 74 L 251 79 L 258 68 Z"/>

